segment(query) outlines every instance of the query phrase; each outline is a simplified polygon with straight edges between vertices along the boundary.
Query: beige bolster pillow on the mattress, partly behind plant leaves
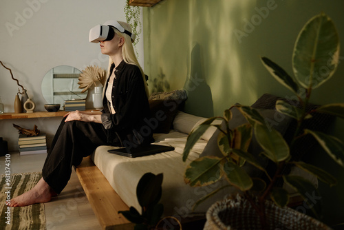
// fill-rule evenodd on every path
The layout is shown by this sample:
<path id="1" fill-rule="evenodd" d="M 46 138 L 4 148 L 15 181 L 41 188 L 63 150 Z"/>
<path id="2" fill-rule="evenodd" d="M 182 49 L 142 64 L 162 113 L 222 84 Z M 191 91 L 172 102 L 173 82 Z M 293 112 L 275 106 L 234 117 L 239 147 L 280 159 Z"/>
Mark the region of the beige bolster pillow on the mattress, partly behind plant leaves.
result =
<path id="1" fill-rule="evenodd" d="M 190 134 L 195 127 L 206 121 L 206 119 L 207 118 L 204 118 L 202 116 L 195 116 L 192 114 L 186 114 L 185 112 L 179 111 L 173 121 L 173 129 L 184 134 Z M 221 121 L 215 120 L 213 121 L 213 124 L 220 125 Z M 211 136 L 213 136 L 216 129 L 216 127 L 209 127 L 206 130 L 206 132 L 204 132 L 204 134 L 201 136 L 201 139 L 209 140 Z"/>

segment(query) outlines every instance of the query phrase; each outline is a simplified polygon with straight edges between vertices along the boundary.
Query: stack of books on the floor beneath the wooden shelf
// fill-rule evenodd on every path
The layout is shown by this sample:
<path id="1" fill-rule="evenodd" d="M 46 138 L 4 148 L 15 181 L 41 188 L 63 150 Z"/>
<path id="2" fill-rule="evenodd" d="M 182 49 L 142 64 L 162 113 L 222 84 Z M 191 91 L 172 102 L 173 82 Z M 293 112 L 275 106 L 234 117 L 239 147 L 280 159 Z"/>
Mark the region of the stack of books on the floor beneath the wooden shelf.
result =
<path id="1" fill-rule="evenodd" d="M 45 134 L 39 134 L 39 136 L 19 134 L 18 144 L 19 153 L 21 155 L 47 153 L 47 140 Z"/>

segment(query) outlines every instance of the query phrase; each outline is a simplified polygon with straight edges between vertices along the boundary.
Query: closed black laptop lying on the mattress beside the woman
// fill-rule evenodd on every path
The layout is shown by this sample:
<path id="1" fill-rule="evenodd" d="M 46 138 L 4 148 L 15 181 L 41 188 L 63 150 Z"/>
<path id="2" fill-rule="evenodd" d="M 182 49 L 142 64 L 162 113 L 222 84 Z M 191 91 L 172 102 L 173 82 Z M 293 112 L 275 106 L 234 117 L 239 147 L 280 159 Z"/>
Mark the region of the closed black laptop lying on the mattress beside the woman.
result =
<path id="1" fill-rule="evenodd" d="M 119 149 L 109 149 L 107 150 L 111 154 L 117 154 L 120 156 L 127 156 L 127 157 L 137 157 L 137 156 L 149 156 L 151 154 L 158 154 L 164 151 L 173 151 L 174 147 L 166 146 L 166 145 L 147 145 L 143 147 L 136 147 L 136 148 L 119 148 Z"/>

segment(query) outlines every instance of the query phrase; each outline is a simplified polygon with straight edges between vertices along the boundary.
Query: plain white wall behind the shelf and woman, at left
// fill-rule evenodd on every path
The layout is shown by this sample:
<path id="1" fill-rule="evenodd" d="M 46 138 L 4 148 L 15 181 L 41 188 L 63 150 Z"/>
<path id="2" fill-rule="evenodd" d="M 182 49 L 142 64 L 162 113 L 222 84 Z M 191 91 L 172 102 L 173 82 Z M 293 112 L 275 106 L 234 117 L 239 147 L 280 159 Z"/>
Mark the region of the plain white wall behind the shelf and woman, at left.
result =
<path id="1" fill-rule="evenodd" d="M 14 78 L 28 90 L 36 111 L 44 111 L 41 93 L 43 76 L 52 67 L 72 65 L 83 70 L 87 65 L 107 69 L 107 56 L 99 45 L 89 43 L 89 29 L 110 19 L 126 21 L 125 0 L 1 0 L 0 61 L 12 69 Z M 137 45 L 143 67 L 143 36 Z M 0 96 L 5 112 L 14 112 L 18 86 L 10 72 L 0 66 Z M 30 128 L 37 125 L 52 139 L 61 118 L 0 121 L 0 136 L 10 150 L 17 149 L 17 129 L 12 123 Z"/>

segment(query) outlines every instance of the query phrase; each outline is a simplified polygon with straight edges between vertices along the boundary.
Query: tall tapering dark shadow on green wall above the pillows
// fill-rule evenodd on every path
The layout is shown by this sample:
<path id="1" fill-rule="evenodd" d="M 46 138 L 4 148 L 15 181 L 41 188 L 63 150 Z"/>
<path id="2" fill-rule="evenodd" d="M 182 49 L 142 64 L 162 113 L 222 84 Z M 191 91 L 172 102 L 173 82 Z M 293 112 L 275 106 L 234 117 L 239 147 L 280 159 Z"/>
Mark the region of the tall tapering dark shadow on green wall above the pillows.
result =
<path id="1" fill-rule="evenodd" d="M 186 113 L 204 117 L 214 116 L 213 97 L 204 77 L 202 49 L 199 43 L 196 43 L 191 51 L 191 72 L 186 76 L 184 89 L 188 94 L 184 109 Z"/>

